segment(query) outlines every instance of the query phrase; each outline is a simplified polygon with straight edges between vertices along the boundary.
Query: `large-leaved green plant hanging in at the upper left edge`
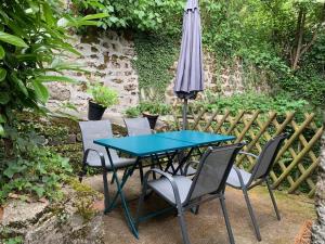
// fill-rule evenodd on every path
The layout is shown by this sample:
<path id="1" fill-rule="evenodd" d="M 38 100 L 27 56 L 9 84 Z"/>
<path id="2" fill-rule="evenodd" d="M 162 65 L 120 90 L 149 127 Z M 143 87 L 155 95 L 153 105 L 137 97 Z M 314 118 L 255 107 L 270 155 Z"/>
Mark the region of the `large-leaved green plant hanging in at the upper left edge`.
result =
<path id="1" fill-rule="evenodd" d="M 13 112 L 24 108 L 47 113 L 49 81 L 74 82 L 64 70 L 81 70 L 80 65 L 64 62 L 66 55 L 79 55 L 66 40 L 68 30 L 98 25 L 107 13 L 72 17 L 61 3 L 46 0 L 3 0 L 0 7 L 0 137 Z M 15 23 L 14 25 L 12 23 Z"/>

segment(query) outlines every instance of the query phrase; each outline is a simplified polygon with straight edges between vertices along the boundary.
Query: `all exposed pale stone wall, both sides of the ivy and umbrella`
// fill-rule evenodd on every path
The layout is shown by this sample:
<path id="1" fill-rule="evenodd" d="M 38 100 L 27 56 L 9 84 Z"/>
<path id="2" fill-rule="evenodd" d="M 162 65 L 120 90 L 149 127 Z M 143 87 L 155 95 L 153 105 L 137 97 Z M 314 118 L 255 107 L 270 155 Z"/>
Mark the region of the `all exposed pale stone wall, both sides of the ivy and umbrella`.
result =
<path id="1" fill-rule="evenodd" d="M 132 67 L 132 60 L 136 59 L 132 35 L 128 33 L 117 33 L 113 30 L 96 31 L 89 30 L 83 36 L 75 36 L 73 46 L 81 53 L 81 56 L 70 56 L 67 62 L 80 63 L 89 70 L 89 74 L 80 72 L 66 73 L 67 76 L 80 80 L 78 85 L 53 82 L 49 86 L 51 99 L 49 106 L 57 107 L 62 102 L 69 101 L 81 114 L 88 110 L 88 100 L 84 82 L 100 81 L 118 91 L 119 104 L 106 110 L 106 114 L 120 115 L 129 106 L 139 103 L 139 84 L 136 70 Z M 247 89 L 257 91 L 270 90 L 266 79 L 251 82 L 252 77 L 244 73 L 240 60 L 235 60 L 231 64 L 217 62 L 212 53 L 204 53 L 205 89 L 223 95 L 242 93 Z M 177 61 L 170 70 L 176 74 Z M 251 70 L 250 70 L 251 69 Z M 253 67 L 245 70 L 253 73 Z M 259 74 L 259 77 L 260 76 Z M 177 102 L 173 93 L 174 79 L 170 80 L 165 97 L 167 103 Z M 198 99 L 203 97 L 199 93 Z"/>

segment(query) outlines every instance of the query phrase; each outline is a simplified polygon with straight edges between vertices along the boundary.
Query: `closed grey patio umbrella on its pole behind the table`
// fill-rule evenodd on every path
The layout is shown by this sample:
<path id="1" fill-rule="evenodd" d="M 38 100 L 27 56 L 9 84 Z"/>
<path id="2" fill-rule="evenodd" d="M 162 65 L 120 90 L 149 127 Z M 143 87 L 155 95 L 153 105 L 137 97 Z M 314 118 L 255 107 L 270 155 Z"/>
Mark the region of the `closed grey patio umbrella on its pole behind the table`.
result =
<path id="1" fill-rule="evenodd" d="M 200 16 L 197 0 L 187 0 L 174 92 L 183 104 L 183 129 L 187 126 L 187 100 L 204 89 Z"/>

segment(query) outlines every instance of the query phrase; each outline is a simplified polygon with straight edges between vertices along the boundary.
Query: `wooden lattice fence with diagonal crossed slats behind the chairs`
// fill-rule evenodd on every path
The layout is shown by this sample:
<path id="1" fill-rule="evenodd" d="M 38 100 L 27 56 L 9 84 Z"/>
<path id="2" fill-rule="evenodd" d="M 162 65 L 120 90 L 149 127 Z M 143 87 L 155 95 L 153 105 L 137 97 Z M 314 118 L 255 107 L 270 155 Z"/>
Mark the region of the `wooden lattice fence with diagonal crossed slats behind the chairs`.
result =
<path id="1" fill-rule="evenodd" d="M 181 128 L 180 107 L 174 107 L 173 117 L 177 129 Z M 259 154 L 264 143 L 282 132 L 290 137 L 281 149 L 271 171 L 273 187 L 284 185 L 288 193 L 297 190 L 308 192 L 312 197 L 315 192 L 315 169 L 320 163 L 320 138 L 324 130 L 314 121 L 314 114 L 304 114 L 299 119 L 295 113 L 277 115 L 274 112 L 260 113 L 240 111 L 235 116 L 229 111 L 219 113 L 205 108 L 191 108 L 187 115 L 188 129 L 214 133 L 234 134 L 236 142 L 245 140 L 244 151 Z M 298 123 L 299 121 L 299 123 Z M 251 170 L 255 159 L 240 155 L 236 164 Z"/>

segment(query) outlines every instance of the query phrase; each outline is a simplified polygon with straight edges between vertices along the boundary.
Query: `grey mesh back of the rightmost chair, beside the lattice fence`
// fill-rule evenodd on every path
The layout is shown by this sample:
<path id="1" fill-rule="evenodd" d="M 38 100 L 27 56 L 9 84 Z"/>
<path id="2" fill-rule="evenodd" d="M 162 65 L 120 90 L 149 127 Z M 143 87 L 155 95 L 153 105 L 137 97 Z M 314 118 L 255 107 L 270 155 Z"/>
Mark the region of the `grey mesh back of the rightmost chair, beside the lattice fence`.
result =
<path id="1" fill-rule="evenodd" d="M 252 170 L 252 180 L 261 179 L 269 175 L 282 143 L 287 137 L 287 133 L 283 133 L 268 141 Z"/>

